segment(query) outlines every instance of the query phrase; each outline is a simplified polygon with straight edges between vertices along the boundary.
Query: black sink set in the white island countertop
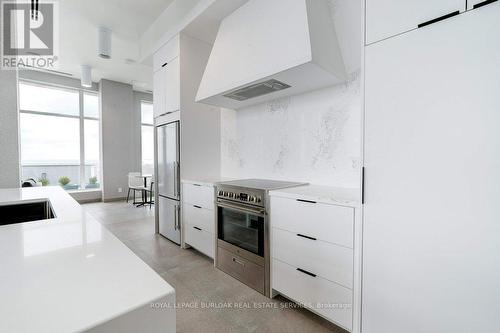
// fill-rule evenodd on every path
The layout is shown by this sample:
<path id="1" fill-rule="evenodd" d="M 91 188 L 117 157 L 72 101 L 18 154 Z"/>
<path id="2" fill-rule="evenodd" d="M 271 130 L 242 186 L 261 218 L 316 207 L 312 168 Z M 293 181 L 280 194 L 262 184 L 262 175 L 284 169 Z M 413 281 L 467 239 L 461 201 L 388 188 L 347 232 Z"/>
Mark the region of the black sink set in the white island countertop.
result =
<path id="1" fill-rule="evenodd" d="M 48 220 L 54 217 L 49 200 L 0 205 L 0 225 Z"/>

